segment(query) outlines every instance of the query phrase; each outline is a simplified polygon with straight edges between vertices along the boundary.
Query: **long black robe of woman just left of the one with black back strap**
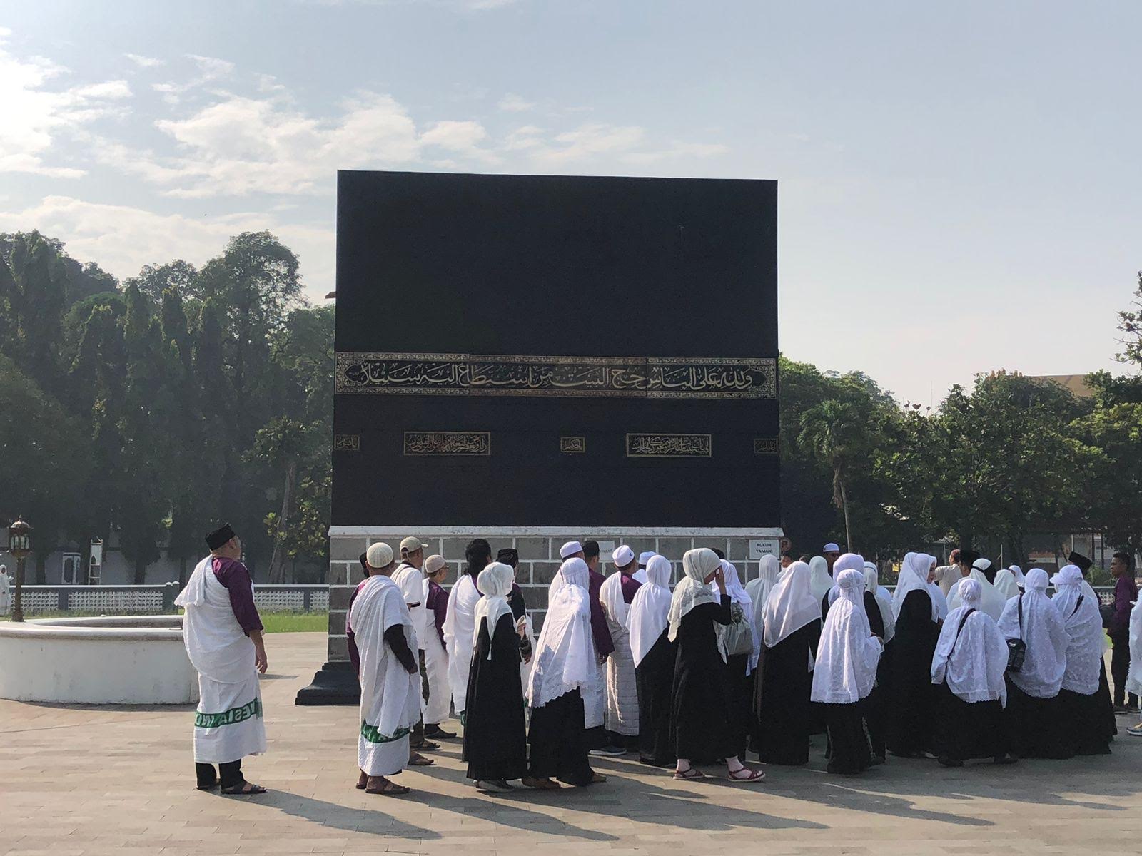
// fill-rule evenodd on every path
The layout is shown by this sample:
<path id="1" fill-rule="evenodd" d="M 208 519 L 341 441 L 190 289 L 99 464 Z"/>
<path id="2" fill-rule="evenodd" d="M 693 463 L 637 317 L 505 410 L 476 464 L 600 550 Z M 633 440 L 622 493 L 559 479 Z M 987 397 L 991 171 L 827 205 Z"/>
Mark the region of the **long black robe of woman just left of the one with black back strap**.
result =
<path id="1" fill-rule="evenodd" d="M 886 704 L 888 749 L 893 754 L 907 758 L 932 750 L 932 656 L 939 639 L 931 595 L 919 589 L 908 592 L 896 616 Z"/>

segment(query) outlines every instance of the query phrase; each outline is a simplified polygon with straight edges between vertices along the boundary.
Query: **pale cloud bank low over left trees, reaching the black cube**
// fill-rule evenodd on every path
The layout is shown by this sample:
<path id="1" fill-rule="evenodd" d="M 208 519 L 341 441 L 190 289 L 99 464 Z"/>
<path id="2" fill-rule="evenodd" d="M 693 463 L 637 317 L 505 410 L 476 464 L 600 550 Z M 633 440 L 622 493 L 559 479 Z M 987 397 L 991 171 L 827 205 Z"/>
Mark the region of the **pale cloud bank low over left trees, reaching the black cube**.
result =
<path id="1" fill-rule="evenodd" d="M 268 229 L 297 253 L 311 297 L 333 288 L 332 229 L 288 224 L 259 212 L 184 217 L 46 196 L 22 211 L 0 211 L 0 232 L 17 229 L 58 237 L 74 258 L 96 261 L 120 278 L 136 275 L 144 265 L 175 258 L 201 265 L 222 252 L 231 236 Z"/>

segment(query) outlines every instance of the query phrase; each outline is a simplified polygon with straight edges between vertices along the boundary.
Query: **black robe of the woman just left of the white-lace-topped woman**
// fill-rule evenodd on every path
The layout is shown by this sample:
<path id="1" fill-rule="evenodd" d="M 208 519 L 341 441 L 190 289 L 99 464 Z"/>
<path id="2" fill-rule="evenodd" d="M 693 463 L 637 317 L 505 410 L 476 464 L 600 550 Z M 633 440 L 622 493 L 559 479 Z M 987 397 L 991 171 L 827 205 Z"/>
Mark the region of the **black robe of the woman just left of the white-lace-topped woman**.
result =
<path id="1" fill-rule="evenodd" d="M 813 672 L 810 652 L 817 651 L 821 622 L 813 620 L 772 648 L 762 646 L 757 664 L 758 757 L 767 764 L 801 765 L 809 761 L 809 736 L 813 733 Z"/>

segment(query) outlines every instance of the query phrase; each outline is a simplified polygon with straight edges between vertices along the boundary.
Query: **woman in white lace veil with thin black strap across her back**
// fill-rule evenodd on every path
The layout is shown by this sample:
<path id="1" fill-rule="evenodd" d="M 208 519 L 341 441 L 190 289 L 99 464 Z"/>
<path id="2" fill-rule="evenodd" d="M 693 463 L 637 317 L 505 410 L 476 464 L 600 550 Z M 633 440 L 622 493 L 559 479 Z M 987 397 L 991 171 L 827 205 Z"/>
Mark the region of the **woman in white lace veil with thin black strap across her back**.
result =
<path id="1" fill-rule="evenodd" d="M 932 657 L 935 753 L 944 767 L 963 767 L 971 758 L 1012 764 L 1003 716 L 1007 643 L 980 611 L 980 584 L 967 580 L 959 591 L 963 606 L 948 613 Z"/>

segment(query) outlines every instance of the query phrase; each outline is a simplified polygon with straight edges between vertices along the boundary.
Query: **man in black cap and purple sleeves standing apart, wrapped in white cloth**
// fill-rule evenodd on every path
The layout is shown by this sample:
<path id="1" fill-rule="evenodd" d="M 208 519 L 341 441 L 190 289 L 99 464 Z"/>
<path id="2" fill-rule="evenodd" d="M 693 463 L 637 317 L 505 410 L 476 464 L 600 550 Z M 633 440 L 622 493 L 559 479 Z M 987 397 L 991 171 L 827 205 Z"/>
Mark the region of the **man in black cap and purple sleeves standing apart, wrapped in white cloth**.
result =
<path id="1" fill-rule="evenodd" d="M 247 782 L 242 759 L 266 751 L 258 673 L 266 671 L 262 620 L 250 573 L 239 559 L 242 542 L 226 524 L 207 535 L 210 555 L 175 599 L 186 614 L 183 637 L 199 672 L 194 714 L 194 768 L 200 791 L 222 785 L 227 794 L 265 793 Z M 218 777 L 215 765 L 218 765 Z"/>

